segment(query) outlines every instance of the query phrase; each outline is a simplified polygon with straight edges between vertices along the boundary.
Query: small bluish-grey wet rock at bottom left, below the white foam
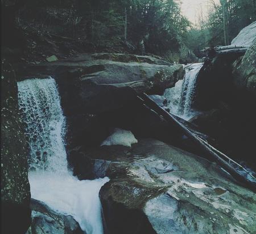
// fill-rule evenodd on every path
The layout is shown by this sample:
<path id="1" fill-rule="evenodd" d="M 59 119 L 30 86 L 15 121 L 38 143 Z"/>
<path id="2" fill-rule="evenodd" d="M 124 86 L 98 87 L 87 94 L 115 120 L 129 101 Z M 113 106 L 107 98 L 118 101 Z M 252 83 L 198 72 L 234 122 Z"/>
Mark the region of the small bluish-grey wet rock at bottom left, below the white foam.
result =
<path id="1" fill-rule="evenodd" d="M 26 234 L 84 234 L 70 215 L 57 214 L 43 202 L 31 199 L 32 223 Z"/>

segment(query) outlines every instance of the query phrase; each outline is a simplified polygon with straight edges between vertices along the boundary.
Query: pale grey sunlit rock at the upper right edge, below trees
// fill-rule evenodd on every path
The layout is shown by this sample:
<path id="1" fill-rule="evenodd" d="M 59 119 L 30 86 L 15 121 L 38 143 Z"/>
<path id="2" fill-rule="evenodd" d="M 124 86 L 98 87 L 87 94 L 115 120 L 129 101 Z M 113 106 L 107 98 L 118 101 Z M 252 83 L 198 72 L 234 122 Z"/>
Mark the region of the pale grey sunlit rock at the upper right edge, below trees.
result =
<path id="1" fill-rule="evenodd" d="M 256 21 L 243 28 L 237 37 L 235 37 L 231 45 L 245 45 L 250 46 L 254 39 L 256 39 Z"/>

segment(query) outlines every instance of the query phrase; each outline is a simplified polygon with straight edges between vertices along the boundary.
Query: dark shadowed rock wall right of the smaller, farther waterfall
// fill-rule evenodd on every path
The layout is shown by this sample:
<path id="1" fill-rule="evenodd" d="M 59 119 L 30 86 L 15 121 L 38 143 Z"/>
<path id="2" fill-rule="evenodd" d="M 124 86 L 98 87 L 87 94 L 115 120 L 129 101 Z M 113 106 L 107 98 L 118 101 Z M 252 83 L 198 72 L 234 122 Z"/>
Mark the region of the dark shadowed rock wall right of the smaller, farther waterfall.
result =
<path id="1" fill-rule="evenodd" d="M 256 168 L 253 57 L 249 50 L 248 56 L 219 55 L 205 62 L 197 79 L 195 107 L 208 113 L 193 122 L 217 139 L 220 150 Z"/>

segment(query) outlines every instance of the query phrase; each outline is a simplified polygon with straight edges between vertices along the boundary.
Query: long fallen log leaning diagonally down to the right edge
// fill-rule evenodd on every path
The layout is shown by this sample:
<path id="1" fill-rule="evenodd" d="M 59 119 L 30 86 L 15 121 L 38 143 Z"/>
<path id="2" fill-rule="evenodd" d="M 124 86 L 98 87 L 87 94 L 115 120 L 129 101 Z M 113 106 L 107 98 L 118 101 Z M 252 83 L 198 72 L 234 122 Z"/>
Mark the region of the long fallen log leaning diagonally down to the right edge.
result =
<path id="1" fill-rule="evenodd" d="M 158 104 L 155 103 L 154 100 L 152 100 L 146 93 L 143 93 L 141 96 L 138 96 L 139 100 L 143 101 L 143 105 L 146 105 L 146 107 L 152 109 L 155 113 L 157 113 L 160 117 L 162 117 L 164 120 L 168 122 L 170 125 L 175 125 L 179 127 L 179 129 L 186 135 L 191 141 L 195 143 L 197 147 L 199 147 L 202 151 L 204 151 L 207 155 L 211 156 L 214 160 L 218 162 L 218 164 L 221 165 L 227 172 L 230 173 L 231 176 L 233 176 L 234 179 L 236 179 L 238 182 L 240 182 L 241 185 L 245 186 L 246 188 L 251 189 L 254 193 L 256 193 L 256 183 L 250 180 L 247 180 L 244 176 L 240 175 L 236 171 L 235 168 L 232 167 L 232 165 L 229 164 L 228 160 L 230 159 L 228 156 L 221 153 L 220 151 L 216 150 L 213 146 L 210 146 L 207 142 L 205 142 L 203 139 L 197 137 L 197 135 L 193 134 L 191 130 L 187 129 L 183 124 L 181 124 L 172 114 L 168 113 L 166 110 L 164 110 L 162 107 L 159 107 Z M 210 147 L 209 147 L 210 146 Z M 232 160 L 234 161 L 234 160 Z M 239 165 L 240 168 L 244 169 L 240 164 L 236 163 L 236 165 Z M 246 171 L 247 172 L 247 171 Z M 247 172 L 248 173 L 248 172 Z"/>

